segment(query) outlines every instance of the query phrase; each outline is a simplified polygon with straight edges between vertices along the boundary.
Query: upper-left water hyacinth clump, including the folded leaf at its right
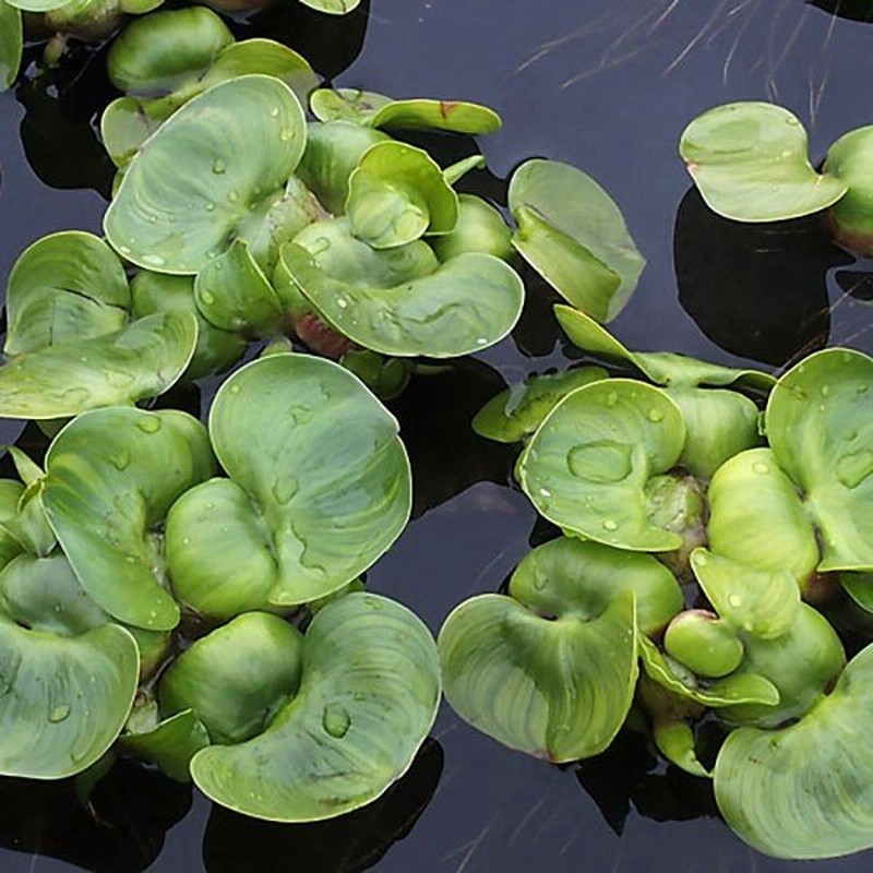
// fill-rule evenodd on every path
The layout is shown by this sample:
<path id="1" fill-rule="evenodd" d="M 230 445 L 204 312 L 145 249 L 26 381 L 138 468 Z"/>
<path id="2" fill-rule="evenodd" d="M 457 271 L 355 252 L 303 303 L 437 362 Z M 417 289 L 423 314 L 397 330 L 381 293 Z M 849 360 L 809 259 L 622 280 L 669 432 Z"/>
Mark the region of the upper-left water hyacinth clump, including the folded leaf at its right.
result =
<path id="1" fill-rule="evenodd" d="M 63 418 L 154 397 L 239 360 L 249 340 L 296 336 L 382 396 L 412 359 L 503 338 L 524 286 L 518 251 L 599 320 L 643 267 L 621 214 L 585 174 L 531 160 L 512 179 L 514 230 L 382 128 L 485 133 L 487 107 L 315 89 L 268 39 L 234 40 L 204 8 L 131 24 L 108 58 L 125 96 L 101 130 L 118 166 L 107 242 L 34 243 L 9 282 L 0 415 Z M 140 271 L 128 282 L 129 267 Z"/>

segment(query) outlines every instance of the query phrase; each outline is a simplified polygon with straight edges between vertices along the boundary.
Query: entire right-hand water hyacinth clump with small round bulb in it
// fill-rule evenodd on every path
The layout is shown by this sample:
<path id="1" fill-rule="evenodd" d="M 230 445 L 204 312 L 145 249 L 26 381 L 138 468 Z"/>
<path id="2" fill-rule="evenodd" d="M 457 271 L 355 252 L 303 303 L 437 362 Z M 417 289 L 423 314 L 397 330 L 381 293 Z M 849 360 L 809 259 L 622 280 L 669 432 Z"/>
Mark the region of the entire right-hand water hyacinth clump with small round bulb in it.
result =
<path id="1" fill-rule="evenodd" d="M 757 849 L 873 845 L 873 647 L 847 666 L 808 602 L 841 585 L 873 606 L 873 359 L 827 349 L 776 381 L 632 352 L 577 310 L 555 313 L 574 345 L 637 374 L 538 376 L 475 419 L 526 441 L 516 477 L 563 536 L 505 595 L 447 618 L 446 698 L 554 762 L 602 752 L 642 711 L 669 761 L 714 778 L 727 823 Z M 713 719 L 728 736 L 710 772 L 695 729 Z"/>

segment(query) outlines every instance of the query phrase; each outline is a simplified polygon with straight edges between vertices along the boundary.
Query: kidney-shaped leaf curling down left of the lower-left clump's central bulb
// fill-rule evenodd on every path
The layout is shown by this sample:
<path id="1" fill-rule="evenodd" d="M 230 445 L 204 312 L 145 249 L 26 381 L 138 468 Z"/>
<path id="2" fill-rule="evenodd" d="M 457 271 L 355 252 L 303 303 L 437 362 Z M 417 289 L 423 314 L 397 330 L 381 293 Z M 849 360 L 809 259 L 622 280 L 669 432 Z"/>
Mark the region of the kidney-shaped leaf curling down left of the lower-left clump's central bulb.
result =
<path id="1" fill-rule="evenodd" d="M 151 630 L 177 624 L 153 531 L 213 470 L 203 426 L 175 410 L 98 409 L 51 443 L 46 513 L 82 587 L 111 615 Z"/>

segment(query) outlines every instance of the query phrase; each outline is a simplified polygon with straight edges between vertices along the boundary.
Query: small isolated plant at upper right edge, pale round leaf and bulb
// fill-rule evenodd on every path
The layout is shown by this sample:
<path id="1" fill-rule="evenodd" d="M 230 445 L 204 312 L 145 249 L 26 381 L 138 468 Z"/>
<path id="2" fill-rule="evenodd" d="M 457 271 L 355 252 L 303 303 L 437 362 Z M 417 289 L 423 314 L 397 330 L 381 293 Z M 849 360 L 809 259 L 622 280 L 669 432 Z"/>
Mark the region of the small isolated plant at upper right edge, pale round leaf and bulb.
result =
<path id="1" fill-rule="evenodd" d="M 707 205 L 737 222 L 778 222 L 826 210 L 832 237 L 873 255 L 873 125 L 840 136 L 816 172 L 806 132 L 767 103 L 717 106 L 695 118 L 679 146 Z"/>

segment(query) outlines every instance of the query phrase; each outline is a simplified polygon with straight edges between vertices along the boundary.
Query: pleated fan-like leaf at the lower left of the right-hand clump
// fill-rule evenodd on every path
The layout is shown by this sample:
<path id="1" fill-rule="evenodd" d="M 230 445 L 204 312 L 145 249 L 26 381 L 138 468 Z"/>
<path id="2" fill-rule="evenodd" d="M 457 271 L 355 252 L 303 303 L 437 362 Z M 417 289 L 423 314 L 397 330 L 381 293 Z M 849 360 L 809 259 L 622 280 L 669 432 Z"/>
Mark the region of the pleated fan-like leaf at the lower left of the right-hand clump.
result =
<path id="1" fill-rule="evenodd" d="M 504 745 L 549 761 L 602 752 L 637 678 L 634 595 L 607 599 L 585 617 L 543 617 L 492 594 L 456 607 L 438 641 L 452 708 Z"/>

